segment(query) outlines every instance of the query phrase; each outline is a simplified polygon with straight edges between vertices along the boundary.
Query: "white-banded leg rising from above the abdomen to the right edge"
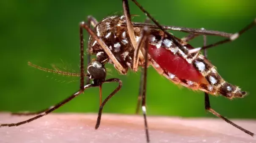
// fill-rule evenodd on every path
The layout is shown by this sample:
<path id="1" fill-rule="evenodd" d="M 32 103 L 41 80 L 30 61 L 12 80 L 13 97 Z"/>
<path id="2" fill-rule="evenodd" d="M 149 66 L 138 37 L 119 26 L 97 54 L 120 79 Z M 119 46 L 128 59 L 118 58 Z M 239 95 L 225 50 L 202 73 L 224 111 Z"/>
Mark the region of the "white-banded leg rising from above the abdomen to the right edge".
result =
<path id="1" fill-rule="evenodd" d="M 203 50 L 203 49 L 208 49 L 208 48 L 211 48 L 211 47 L 215 47 L 217 45 L 221 45 L 221 44 L 224 44 L 226 42 L 231 42 L 231 41 L 234 41 L 236 40 L 241 34 L 243 34 L 244 32 L 248 31 L 249 29 L 251 29 L 254 25 L 256 25 L 256 19 L 254 19 L 253 22 L 251 22 L 249 25 L 245 26 L 242 30 L 240 30 L 239 32 L 235 33 L 235 34 L 232 34 L 228 39 L 225 39 L 225 40 L 222 40 L 222 41 L 219 41 L 219 42 L 215 42 L 214 44 L 211 44 L 211 45 L 207 45 L 207 46 L 204 46 L 204 47 L 199 47 L 199 48 L 195 48 L 195 49 L 192 49 L 192 50 L 189 50 L 188 53 L 195 53 L 195 52 L 198 52 L 200 50 Z"/>

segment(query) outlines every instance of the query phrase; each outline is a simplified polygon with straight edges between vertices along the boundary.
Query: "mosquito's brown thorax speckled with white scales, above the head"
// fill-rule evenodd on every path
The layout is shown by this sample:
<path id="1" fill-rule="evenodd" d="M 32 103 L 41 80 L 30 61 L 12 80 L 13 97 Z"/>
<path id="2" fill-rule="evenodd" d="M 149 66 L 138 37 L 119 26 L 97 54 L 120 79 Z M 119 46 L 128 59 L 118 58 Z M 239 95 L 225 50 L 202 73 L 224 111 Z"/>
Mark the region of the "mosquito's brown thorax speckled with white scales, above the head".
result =
<path id="1" fill-rule="evenodd" d="M 127 27 L 121 26 L 124 22 L 124 16 L 109 16 L 99 21 L 94 27 L 94 31 L 105 42 L 118 62 L 127 71 L 133 65 L 134 49 L 127 32 Z M 135 28 L 135 36 L 140 36 L 139 28 Z M 101 46 L 92 37 L 88 41 L 88 52 L 96 55 L 97 61 L 103 61 L 108 58 Z M 113 64 L 111 60 L 109 60 L 109 63 Z"/>

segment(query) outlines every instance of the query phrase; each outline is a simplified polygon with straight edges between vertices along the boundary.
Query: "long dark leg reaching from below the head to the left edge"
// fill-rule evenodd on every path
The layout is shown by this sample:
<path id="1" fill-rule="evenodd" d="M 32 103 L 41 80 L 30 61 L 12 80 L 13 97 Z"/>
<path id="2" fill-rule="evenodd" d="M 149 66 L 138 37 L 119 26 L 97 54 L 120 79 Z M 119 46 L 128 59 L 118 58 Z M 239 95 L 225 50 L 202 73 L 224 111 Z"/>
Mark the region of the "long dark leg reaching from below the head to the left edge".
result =
<path id="1" fill-rule="evenodd" d="M 84 90 L 86 88 L 90 88 L 90 87 L 96 87 L 98 85 L 85 85 L 84 86 Z M 40 117 L 43 117 L 47 114 L 49 114 L 50 112 L 58 109 L 59 107 L 63 106 L 64 104 L 68 103 L 69 101 L 71 101 L 73 98 L 77 97 L 78 95 L 80 95 L 81 93 L 83 93 L 81 90 L 77 91 L 76 93 L 74 93 L 73 95 L 69 96 L 68 98 L 66 98 L 65 100 L 63 100 L 62 102 L 56 104 L 55 106 L 52 106 L 50 109 L 47 109 L 45 112 L 42 112 L 41 114 L 37 115 L 36 117 L 30 118 L 28 120 L 22 121 L 22 122 L 17 122 L 17 123 L 11 123 L 11 124 L 0 124 L 0 127 L 3 126 L 8 126 L 8 127 L 13 127 L 13 126 L 19 126 L 28 122 L 32 122 L 35 119 L 38 119 Z"/>

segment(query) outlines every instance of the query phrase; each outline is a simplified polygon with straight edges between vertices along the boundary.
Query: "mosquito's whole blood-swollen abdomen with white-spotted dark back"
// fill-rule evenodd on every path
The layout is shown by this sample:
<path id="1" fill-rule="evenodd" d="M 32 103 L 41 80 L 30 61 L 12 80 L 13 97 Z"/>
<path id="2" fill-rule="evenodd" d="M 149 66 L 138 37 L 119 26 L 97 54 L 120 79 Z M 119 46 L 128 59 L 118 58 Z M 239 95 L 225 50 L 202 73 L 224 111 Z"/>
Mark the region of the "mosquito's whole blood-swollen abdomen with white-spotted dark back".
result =
<path id="1" fill-rule="evenodd" d="M 152 66 L 172 82 L 227 98 L 242 98 L 246 95 L 245 91 L 220 77 L 215 66 L 200 52 L 186 55 L 157 31 L 151 33 L 149 40 Z M 184 48 L 193 49 L 186 42 L 177 40 Z"/>

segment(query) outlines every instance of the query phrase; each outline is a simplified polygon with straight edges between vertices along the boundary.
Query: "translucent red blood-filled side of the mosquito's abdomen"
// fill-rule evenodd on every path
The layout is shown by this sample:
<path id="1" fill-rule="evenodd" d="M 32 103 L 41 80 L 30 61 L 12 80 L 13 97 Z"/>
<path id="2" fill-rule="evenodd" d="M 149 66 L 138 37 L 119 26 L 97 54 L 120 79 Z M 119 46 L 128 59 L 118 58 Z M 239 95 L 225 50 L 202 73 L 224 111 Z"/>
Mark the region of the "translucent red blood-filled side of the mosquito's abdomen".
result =
<path id="1" fill-rule="evenodd" d="M 205 83 L 206 80 L 193 64 L 189 64 L 184 58 L 174 55 L 166 48 L 156 48 L 149 44 L 149 55 L 165 71 L 176 75 L 179 79 L 186 79 L 197 83 Z"/>

